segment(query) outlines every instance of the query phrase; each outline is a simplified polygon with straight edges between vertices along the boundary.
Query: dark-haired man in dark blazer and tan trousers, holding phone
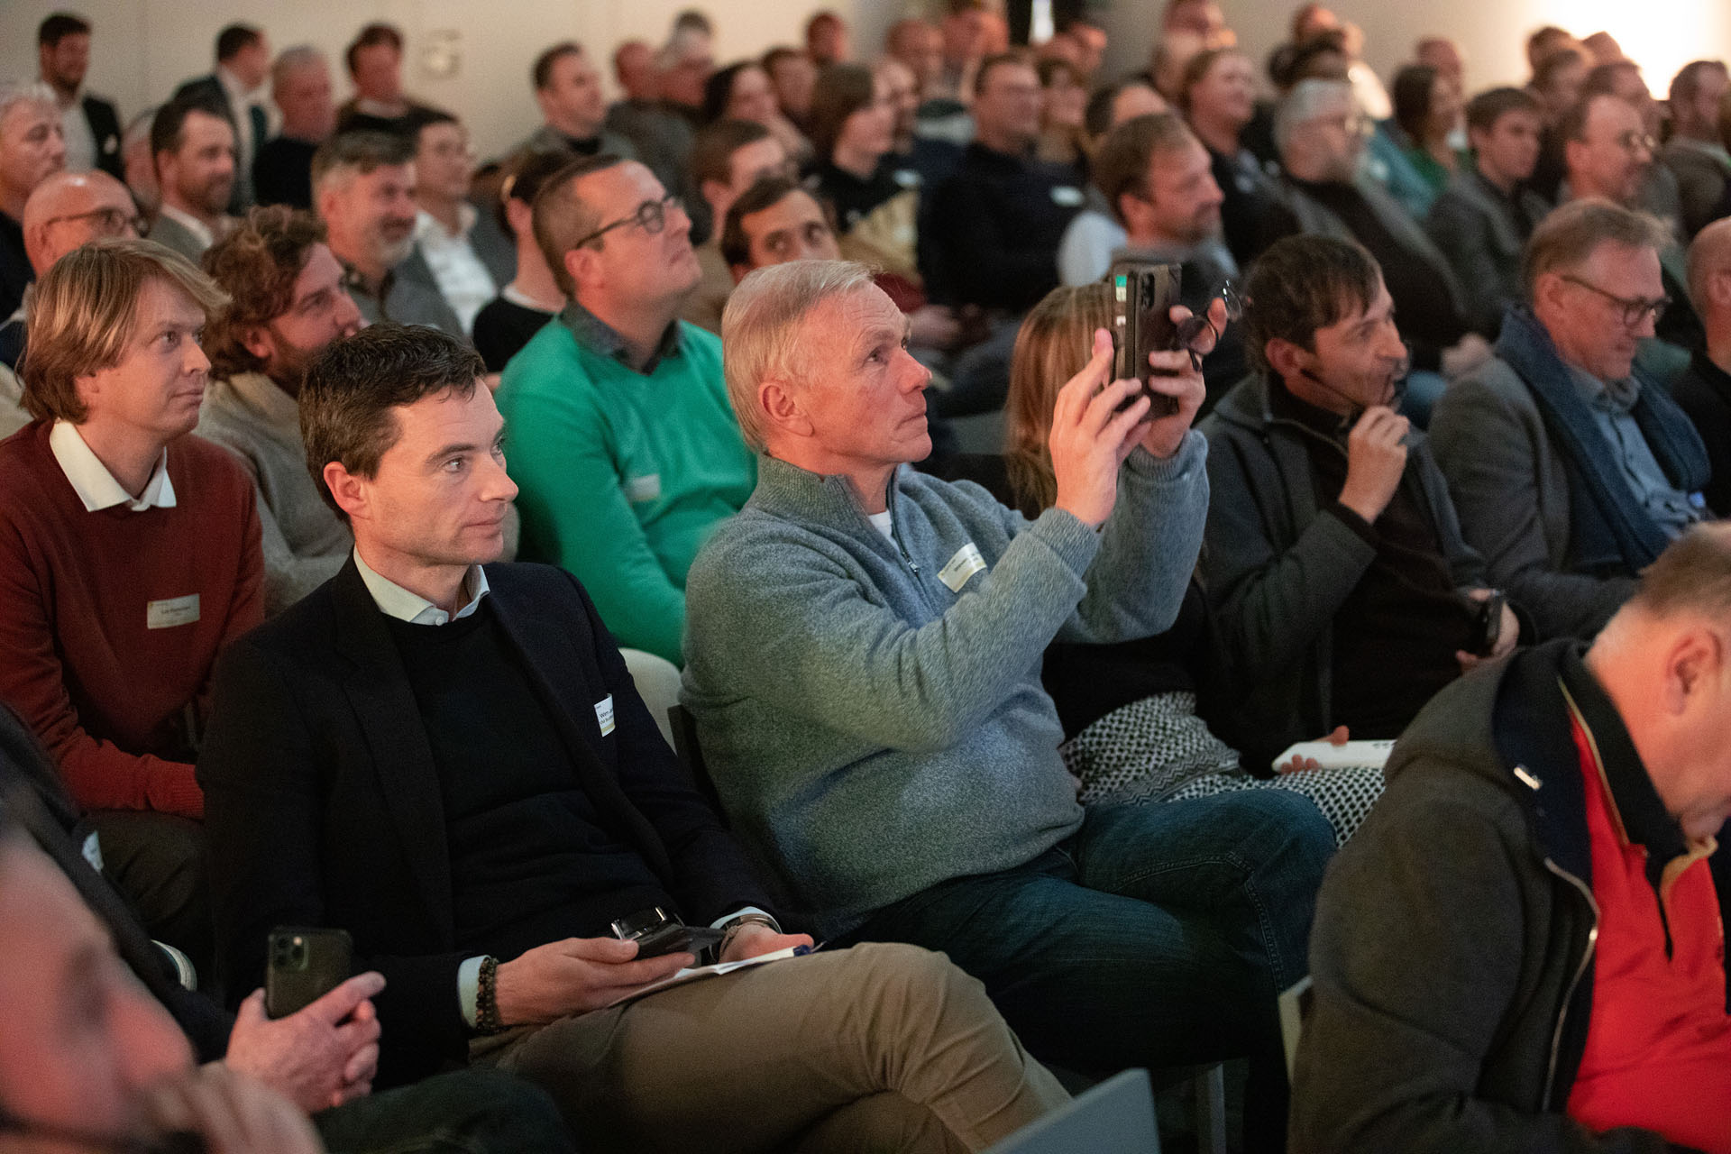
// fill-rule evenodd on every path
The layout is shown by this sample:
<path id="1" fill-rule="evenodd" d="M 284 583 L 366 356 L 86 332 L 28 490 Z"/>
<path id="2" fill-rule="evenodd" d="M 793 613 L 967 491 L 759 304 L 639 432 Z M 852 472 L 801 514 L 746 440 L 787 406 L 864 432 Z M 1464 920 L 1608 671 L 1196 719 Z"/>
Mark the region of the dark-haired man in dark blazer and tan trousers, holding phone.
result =
<path id="1" fill-rule="evenodd" d="M 488 564 L 516 486 L 478 355 L 381 324 L 299 393 L 344 569 L 235 642 L 199 758 L 218 957 L 256 984 L 279 924 L 346 929 L 386 978 L 379 1081 L 518 1073 L 597 1149 L 981 1149 L 1065 1100 L 983 988 L 902 945 L 639 997 L 665 910 L 741 962 L 810 946 L 679 766 L 583 588 Z M 628 998 L 621 1002 L 621 998 Z"/>

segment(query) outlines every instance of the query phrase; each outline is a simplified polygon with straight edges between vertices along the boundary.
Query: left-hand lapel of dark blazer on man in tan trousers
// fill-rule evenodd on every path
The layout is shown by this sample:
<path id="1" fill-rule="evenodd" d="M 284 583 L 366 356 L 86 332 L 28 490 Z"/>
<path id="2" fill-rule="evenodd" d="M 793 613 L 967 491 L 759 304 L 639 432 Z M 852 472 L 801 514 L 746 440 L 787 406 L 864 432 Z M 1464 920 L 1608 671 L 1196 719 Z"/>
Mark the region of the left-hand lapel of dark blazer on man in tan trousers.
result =
<path id="1" fill-rule="evenodd" d="M 372 751 L 372 768 L 396 839 L 421 884 L 421 901 L 445 941 L 452 922 L 450 851 L 445 801 L 440 796 L 433 746 L 428 744 L 421 706 L 409 687 L 384 614 L 360 580 L 350 557 L 331 587 L 336 606 L 336 649 L 353 661 L 343 689 Z"/>

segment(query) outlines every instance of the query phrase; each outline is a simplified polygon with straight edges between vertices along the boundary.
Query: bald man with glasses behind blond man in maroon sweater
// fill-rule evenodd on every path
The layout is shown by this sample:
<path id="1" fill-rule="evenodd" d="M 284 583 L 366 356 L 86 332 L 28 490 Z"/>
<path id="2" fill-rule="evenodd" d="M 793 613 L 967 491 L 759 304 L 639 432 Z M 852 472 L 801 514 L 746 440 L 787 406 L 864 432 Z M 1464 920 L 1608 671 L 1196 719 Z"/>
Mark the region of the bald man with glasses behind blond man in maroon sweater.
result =
<path id="1" fill-rule="evenodd" d="M 38 277 L 87 240 L 137 237 L 142 218 L 126 185 L 102 170 L 55 173 L 24 202 L 24 253 Z M 0 436 L 29 424 L 17 367 L 24 358 L 24 306 L 0 324 Z"/>

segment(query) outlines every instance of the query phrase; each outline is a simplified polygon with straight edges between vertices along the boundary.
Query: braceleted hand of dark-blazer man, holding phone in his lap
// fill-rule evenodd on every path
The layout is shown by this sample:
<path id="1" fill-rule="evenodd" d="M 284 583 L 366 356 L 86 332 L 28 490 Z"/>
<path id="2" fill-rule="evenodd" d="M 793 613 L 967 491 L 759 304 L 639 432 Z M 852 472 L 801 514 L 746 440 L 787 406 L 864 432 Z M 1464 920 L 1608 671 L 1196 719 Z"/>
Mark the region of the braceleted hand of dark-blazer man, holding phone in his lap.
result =
<path id="1" fill-rule="evenodd" d="M 566 938 L 500 962 L 493 976 L 499 1021 L 526 1026 L 597 1010 L 698 960 L 691 953 L 665 953 L 640 962 L 635 957 L 635 941 Z"/>

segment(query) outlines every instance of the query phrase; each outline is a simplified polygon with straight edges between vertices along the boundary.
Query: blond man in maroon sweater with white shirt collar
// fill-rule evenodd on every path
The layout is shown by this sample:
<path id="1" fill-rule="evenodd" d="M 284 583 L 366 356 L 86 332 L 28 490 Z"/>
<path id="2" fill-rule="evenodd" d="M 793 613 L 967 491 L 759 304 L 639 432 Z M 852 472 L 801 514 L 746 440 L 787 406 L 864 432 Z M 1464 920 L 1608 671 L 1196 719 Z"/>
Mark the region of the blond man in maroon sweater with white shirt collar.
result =
<path id="1" fill-rule="evenodd" d="M 211 664 L 261 618 L 253 486 L 187 436 L 222 291 L 149 240 L 55 263 L 29 313 L 24 405 L 0 441 L 0 701 L 42 737 L 152 936 L 211 957 L 204 796 Z"/>

